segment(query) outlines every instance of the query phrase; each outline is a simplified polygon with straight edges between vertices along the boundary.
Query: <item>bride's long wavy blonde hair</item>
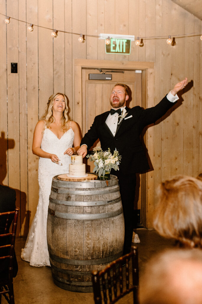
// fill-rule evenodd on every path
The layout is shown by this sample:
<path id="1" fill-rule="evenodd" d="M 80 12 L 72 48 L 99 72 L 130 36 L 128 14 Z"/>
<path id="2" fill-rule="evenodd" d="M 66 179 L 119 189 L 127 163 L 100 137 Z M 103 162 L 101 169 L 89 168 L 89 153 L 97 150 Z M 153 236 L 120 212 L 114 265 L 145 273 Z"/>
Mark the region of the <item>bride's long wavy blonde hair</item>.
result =
<path id="1" fill-rule="evenodd" d="M 53 95 L 51 95 L 48 99 L 48 103 L 47 103 L 47 107 L 46 107 L 46 110 L 45 110 L 45 113 L 43 114 L 43 116 L 41 117 L 41 120 L 44 121 L 44 129 L 45 128 L 49 128 L 50 127 L 50 124 L 51 123 L 54 123 L 55 121 L 55 118 L 53 117 L 53 112 L 52 112 L 52 109 L 53 109 L 53 102 L 54 102 L 54 99 L 58 97 L 58 95 L 62 95 L 65 99 L 65 110 L 63 111 L 63 116 L 61 118 L 61 130 L 63 132 L 67 131 L 68 130 L 68 120 L 70 120 L 70 117 L 69 117 L 69 112 L 70 112 L 70 109 L 69 109 L 69 106 L 68 106 L 68 98 L 65 94 L 63 93 L 55 93 Z"/>

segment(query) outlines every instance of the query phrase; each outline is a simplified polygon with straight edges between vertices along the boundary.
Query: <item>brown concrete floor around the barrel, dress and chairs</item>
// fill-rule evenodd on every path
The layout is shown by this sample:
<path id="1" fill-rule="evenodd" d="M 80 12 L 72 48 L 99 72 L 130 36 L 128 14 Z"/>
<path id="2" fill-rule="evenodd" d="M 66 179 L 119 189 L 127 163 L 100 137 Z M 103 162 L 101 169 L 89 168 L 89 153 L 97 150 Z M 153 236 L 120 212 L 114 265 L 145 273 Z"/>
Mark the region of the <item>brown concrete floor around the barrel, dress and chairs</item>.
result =
<path id="1" fill-rule="evenodd" d="M 171 240 L 160 237 L 154 230 L 134 230 L 139 238 L 137 244 L 140 274 L 145 262 L 164 248 L 173 247 Z M 14 278 L 15 304 L 93 304 L 93 293 L 70 292 L 56 286 L 52 280 L 50 267 L 31 267 L 20 258 L 25 239 L 16 239 L 15 252 L 18 260 L 18 274 Z M 2 297 L 2 304 L 7 303 Z M 120 299 L 120 304 L 132 304 L 132 293 Z"/>

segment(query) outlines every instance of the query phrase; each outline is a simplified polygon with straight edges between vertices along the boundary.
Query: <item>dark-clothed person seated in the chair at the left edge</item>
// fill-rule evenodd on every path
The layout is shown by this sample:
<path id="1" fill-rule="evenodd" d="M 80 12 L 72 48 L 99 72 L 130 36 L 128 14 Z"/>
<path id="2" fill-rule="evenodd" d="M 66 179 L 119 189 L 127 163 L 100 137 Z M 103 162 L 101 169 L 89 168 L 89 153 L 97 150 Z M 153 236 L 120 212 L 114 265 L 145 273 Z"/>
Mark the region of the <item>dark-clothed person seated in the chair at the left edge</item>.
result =
<path id="1" fill-rule="evenodd" d="M 2 212 L 8 212 L 8 211 L 14 211 L 15 210 L 15 200 L 16 200 L 16 193 L 14 189 L 11 189 L 7 186 L 0 185 L 0 213 Z M 14 215 L 13 215 L 14 217 Z M 4 233 L 4 227 L 5 227 L 5 220 L 1 219 L 0 222 L 0 234 Z M 12 223 L 12 220 L 10 223 L 8 223 L 8 226 L 10 227 Z M 8 244 L 8 238 L 2 237 L 0 239 L 0 246 Z M 8 248 L 0 249 L 0 256 L 8 255 Z M 2 277 L 5 277 L 5 270 L 8 269 L 8 263 L 9 260 L 0 260 L 0 279 Z M 14 255 L 14 264 L 13 264 L 13 277 L 16 277 L 18 272 L 18 263 L 16 256 Z"/>

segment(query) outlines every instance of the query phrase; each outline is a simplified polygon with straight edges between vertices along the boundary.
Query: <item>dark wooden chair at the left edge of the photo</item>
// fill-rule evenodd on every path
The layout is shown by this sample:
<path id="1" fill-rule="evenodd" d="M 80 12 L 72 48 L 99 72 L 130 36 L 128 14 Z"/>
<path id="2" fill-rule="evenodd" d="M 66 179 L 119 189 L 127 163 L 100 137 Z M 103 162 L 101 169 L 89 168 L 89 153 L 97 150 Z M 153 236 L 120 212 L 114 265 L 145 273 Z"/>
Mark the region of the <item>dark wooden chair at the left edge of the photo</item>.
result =
<path id="1" fill-rule="evenodd" d="M 2 295 L 4 295 L 8 303 L 15 304 L 13 291 L 13 262 L 18 213 L 19 208 L 15 208 L 15 211 L 0 213 L 0 263 L 6 265 L 7 262 L 8 264 L 3 270 L 0 279 L 0 303 Z M 12 232 L 9 233 L 11 223 Z M 9 298 L 6 294 L 8 294 Z"/>

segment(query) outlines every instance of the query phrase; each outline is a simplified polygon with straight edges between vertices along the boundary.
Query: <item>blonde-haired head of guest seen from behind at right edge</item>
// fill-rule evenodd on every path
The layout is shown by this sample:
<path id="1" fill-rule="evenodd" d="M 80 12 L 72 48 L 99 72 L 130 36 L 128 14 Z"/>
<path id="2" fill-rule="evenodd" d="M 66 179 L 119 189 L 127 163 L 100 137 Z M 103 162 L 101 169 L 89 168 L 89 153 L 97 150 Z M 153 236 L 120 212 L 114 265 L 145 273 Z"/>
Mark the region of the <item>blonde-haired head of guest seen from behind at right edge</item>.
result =
<path id="1" fill-rule="evenodd" d="M 160 184 L 154 228 L 180 247 L 202 247 L 202 181 L 176 176 Z"/>

